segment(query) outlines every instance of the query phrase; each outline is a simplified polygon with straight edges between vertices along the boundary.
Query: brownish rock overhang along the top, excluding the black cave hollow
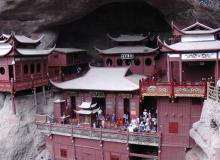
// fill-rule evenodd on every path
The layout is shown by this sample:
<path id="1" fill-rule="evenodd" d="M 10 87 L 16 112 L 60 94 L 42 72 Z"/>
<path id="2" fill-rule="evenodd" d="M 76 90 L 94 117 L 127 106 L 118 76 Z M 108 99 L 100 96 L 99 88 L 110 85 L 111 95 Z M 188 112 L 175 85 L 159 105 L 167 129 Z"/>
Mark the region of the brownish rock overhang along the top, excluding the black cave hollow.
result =
<path id="1" fill-rule="evenodd" d="M 28 32 L 73 22 L 113 2 L 137 0 L 2 0 L 0 26 L 5 31 Z M 170 22 L 187 25 L 194 20 L 220 26 L 218 0 L 144 0 Z M 114 11 L 112 11 L 114 12 Z"/>

